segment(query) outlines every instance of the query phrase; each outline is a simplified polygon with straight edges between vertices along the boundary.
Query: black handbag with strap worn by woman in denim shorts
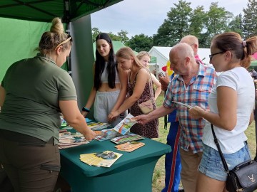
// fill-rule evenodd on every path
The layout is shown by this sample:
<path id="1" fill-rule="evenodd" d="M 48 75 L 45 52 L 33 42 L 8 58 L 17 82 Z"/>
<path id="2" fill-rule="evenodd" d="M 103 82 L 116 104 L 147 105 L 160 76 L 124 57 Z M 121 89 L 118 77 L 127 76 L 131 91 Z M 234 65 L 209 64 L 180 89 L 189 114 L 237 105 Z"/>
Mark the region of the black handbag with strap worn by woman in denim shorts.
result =
<path id="1" fill-rule="evenodd" d="M 226 159 L 223 156 L 221 147 L 218 144 L 218 139 L 211 124 L 211 131 L 213 133 L 214 142 L 218 148 L 218 153 L 221 156 L 223 166 L 228 173 L 226 181 L 226 190 L 229 192 L 252 192 L 257 189 L 257 162 L 256 157 L 254 160 L 244 161 L 238 164 L 234 169 L 229 171 Z"/>

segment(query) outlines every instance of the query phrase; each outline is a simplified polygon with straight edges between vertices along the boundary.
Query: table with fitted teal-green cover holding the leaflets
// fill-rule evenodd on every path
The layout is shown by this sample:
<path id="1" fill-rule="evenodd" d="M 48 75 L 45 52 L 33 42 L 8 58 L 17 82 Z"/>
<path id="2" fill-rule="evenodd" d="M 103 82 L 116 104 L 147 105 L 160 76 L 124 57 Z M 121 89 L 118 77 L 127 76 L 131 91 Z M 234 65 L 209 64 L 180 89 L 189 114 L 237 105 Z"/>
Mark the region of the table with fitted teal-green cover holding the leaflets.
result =
<path id="1" fill-rule="evenodd" d="M 116 150 L 116 144 L 111 141 L 92 141 L 63 149 L 60 151 L 61 176 L 69 183 L 72 192 L 150 192 L 156 162 L 163 154 L 171 152 L 171 146 L 147 138 L 140 141 L 145 146 L 131 153 Z M 89 166 L 79 160 L 80 154 L 106 150 L 123 156 L 109 168 Z"/>

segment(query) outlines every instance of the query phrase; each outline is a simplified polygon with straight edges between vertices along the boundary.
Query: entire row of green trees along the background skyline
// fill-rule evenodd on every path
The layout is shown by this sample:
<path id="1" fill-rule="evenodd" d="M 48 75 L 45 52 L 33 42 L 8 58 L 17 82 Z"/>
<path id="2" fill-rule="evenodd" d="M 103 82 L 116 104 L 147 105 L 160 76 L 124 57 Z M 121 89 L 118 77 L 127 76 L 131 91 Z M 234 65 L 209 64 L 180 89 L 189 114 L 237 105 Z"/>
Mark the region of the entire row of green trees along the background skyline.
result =
<path id="1" fill-rule="evenodd" d="M 233 16 L 218 2 L 212 2 L 208 10 L 203 6 L 191 8 L 191 3 L 178 0 L 171 6 L 167 17 L 159 26 L 157 33 L 146 36 L 143 33 L 128 38 L 128 32 L 121 30 L 117 34 L 109 32 L 113 41 L 121 41 L 133 50 L 150 50 L 152 46 L 174 46 L 183 36 L 198 37 L 200 48 L 209 48 L 211 39 L 219 33 L 235 31 L 243 38 L 257 35 L 257 0 L 248 0 L 243 15 Z M 100 33 L 99 28 L 92 28 L 93 41 Z"/>

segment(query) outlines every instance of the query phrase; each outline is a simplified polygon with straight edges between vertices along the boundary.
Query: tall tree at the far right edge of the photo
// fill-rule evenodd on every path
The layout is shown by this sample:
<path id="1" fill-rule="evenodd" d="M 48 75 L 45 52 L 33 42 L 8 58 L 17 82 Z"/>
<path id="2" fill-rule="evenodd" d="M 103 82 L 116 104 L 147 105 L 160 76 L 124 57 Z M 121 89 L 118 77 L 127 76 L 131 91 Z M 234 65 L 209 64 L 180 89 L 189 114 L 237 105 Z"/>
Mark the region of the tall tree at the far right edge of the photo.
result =
<path id="1" fill-rule="evenodd" d="M 247 8 L 243 9 L 243 37 L 257 35 L 257 1 L 248 0 Z"/>

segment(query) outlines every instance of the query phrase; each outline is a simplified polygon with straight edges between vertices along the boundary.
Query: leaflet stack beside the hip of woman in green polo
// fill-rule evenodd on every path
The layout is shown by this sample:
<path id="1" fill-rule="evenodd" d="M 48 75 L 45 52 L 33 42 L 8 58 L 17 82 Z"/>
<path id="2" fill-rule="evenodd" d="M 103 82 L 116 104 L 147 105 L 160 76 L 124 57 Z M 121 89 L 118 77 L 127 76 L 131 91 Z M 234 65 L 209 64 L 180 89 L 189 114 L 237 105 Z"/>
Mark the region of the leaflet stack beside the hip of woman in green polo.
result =
<path id="1" fill-rule="evenodd" d="M 88 143 L 82 134 L 71 134 L 71 132 L 59 133 L 59 149 L 67 149 Z"/>

